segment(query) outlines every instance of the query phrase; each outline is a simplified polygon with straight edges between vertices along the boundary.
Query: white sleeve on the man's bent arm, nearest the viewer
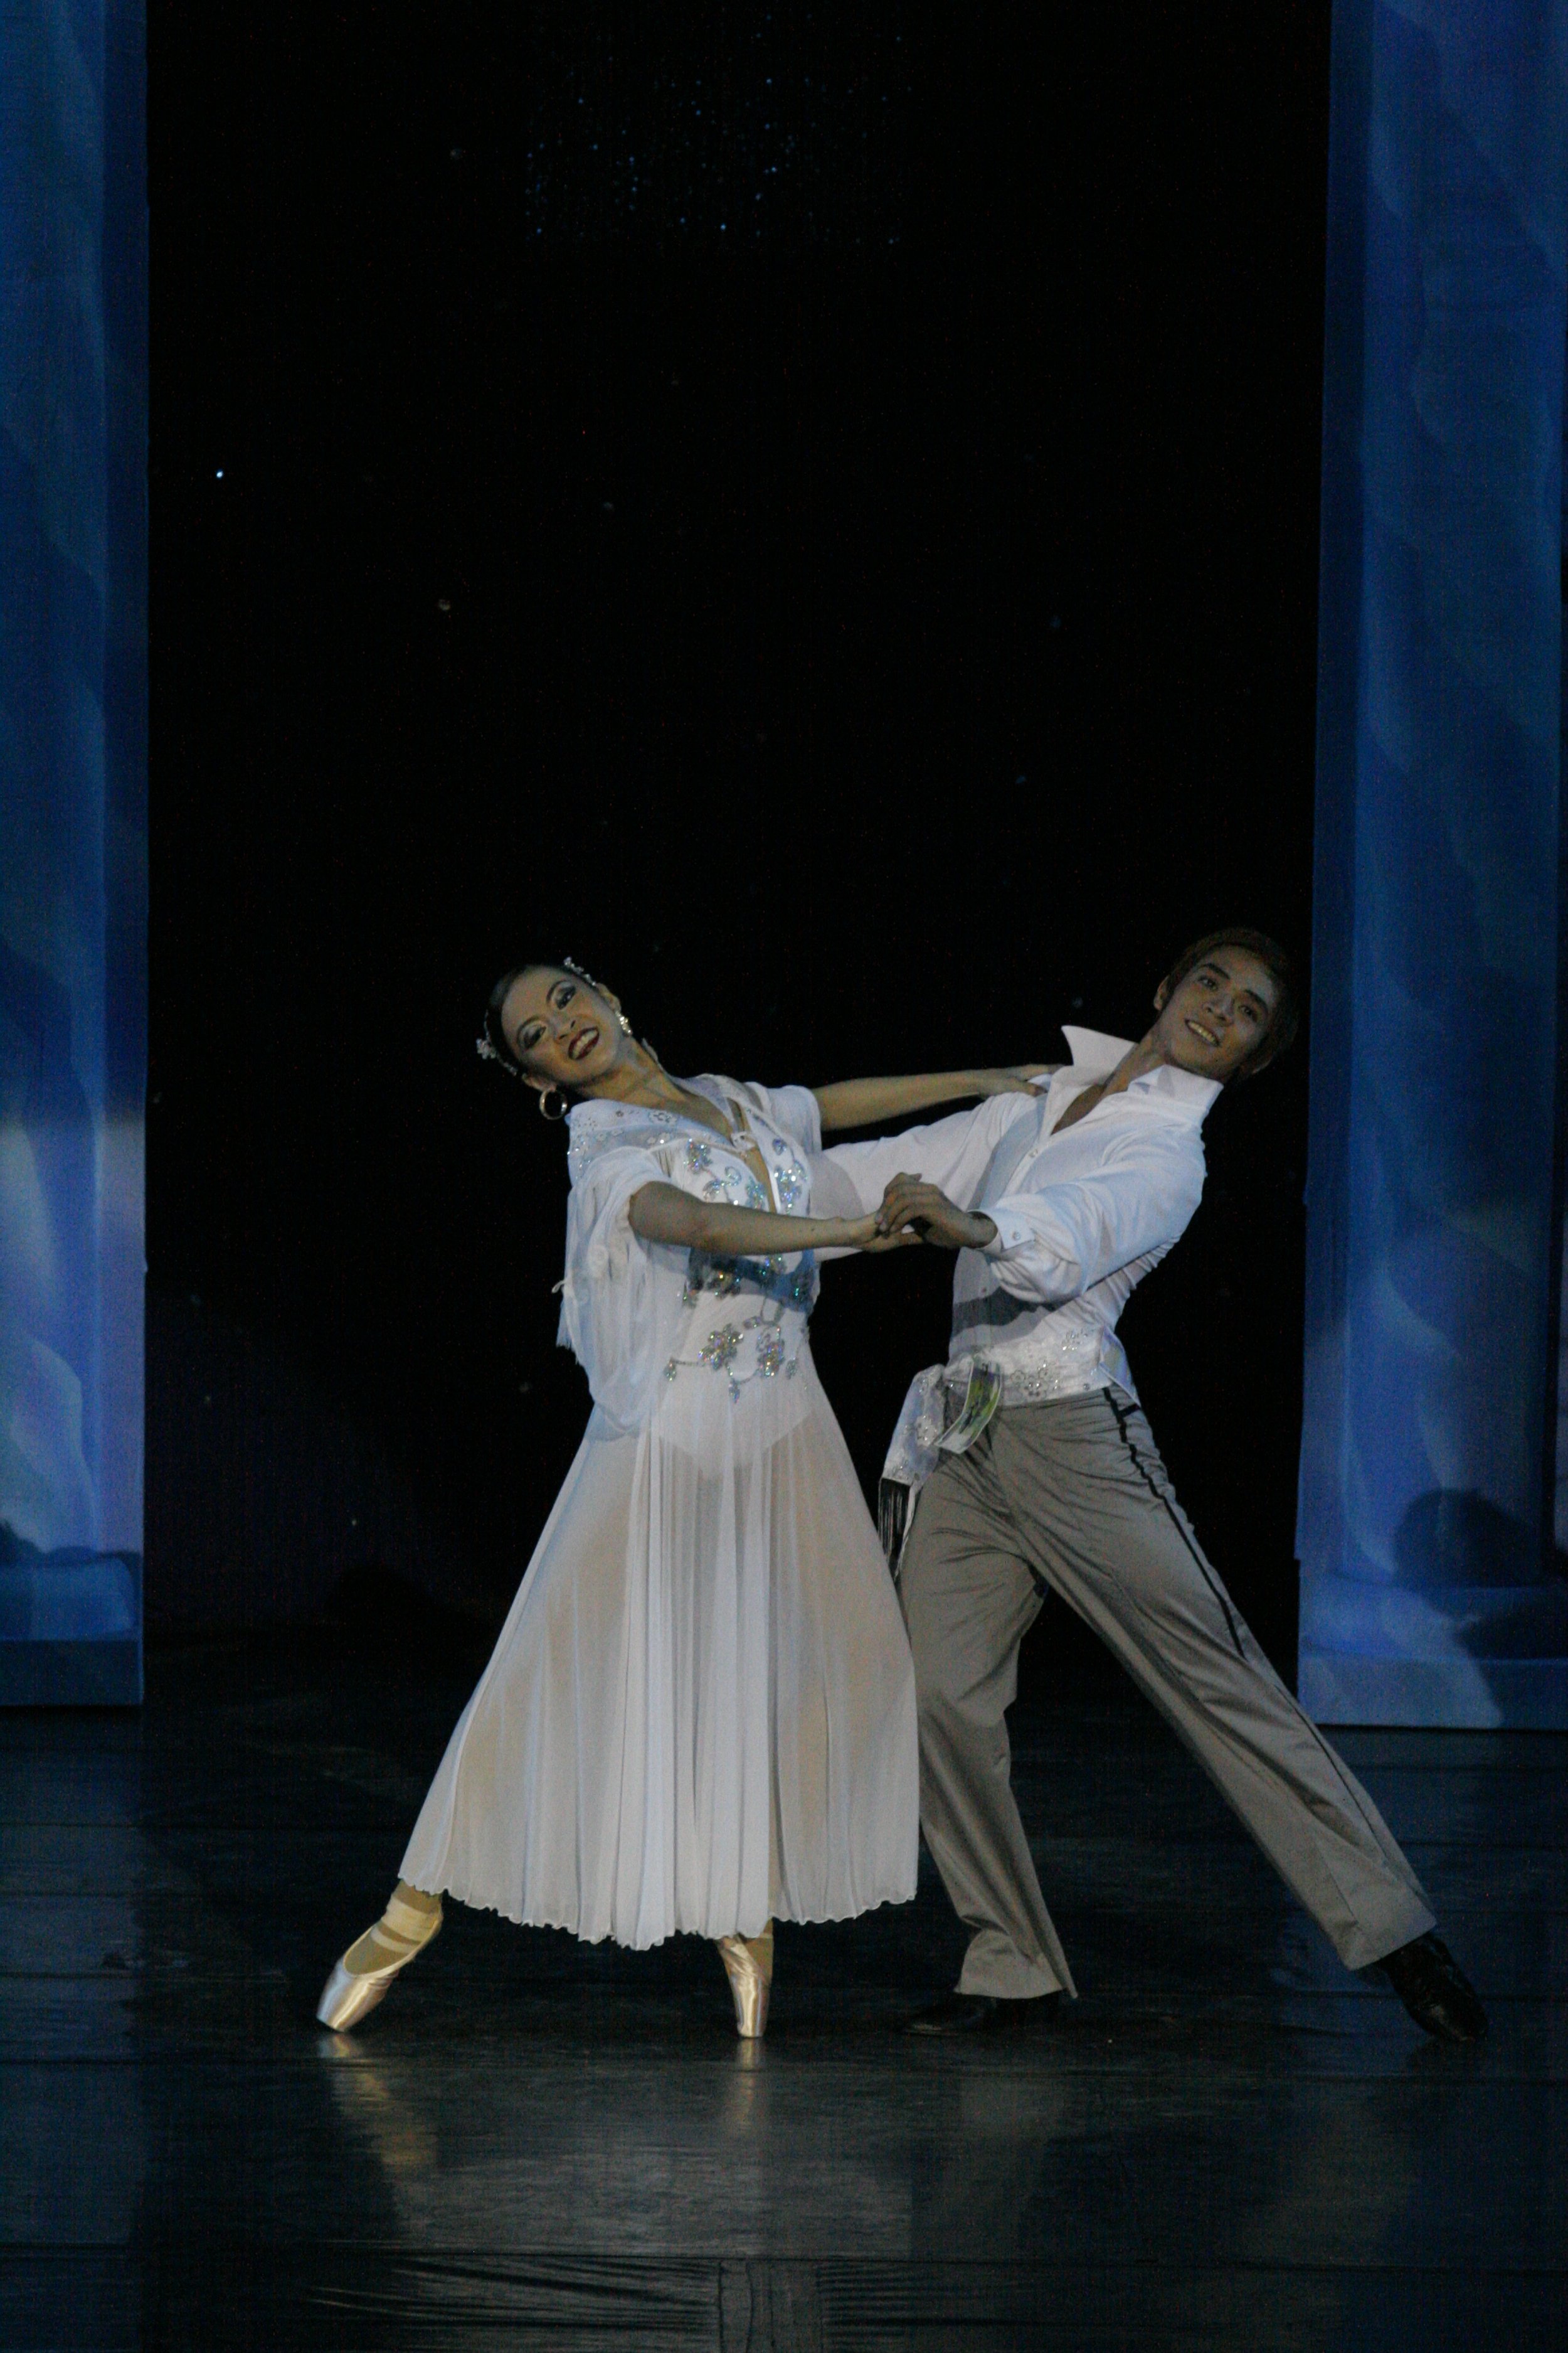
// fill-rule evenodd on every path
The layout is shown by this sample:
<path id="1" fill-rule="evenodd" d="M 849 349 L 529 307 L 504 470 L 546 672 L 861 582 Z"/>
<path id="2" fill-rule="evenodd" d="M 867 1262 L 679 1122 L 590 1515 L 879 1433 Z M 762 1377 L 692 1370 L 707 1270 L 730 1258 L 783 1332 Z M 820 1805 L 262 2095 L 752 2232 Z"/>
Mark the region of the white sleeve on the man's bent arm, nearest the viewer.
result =
<path id="1" fill-rule="evenodd" d="M 1091 1176 L 987 1200 L 983 1257 L 1013 1299 L 1058 1308 L 1185 1233 L 1201 1193 L 1201 1160 L 1128 1144 Z"/>

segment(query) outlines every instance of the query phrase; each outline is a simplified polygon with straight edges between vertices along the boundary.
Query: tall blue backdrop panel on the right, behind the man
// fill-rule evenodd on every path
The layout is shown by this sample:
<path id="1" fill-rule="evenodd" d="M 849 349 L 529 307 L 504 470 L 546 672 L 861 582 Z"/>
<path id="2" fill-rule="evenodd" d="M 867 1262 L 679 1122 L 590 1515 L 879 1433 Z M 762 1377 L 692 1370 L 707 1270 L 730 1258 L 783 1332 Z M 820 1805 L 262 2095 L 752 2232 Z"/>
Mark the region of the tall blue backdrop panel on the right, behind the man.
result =
<path id="1" fill-rule="evenodd" d="M 1566 1725 L 1563 0 L 1335 0 L 1300 1692 Z"/>

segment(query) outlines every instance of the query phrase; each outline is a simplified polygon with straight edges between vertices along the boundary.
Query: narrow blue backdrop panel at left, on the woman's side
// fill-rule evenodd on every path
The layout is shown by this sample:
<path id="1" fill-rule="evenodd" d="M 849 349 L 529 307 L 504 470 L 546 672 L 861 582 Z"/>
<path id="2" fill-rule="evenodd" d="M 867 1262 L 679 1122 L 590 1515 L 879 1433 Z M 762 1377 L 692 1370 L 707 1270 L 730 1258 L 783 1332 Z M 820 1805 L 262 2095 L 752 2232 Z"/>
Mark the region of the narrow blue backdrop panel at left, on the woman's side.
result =
<path id="1" fill-rule="evenodd" d="M 141 1697 L 141 0 L 0 7 L 0 1701 Z"/>

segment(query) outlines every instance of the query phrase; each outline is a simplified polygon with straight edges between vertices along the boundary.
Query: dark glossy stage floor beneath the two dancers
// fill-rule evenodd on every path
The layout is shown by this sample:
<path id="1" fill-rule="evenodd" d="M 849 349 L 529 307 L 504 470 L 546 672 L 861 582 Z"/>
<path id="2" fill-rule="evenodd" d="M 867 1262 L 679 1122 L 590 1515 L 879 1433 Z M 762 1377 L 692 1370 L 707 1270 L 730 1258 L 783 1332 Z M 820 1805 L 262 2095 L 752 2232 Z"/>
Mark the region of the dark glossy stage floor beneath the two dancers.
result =
<path id="1" fill-rule="evenodd" d="M 1046 2033 L 896 2033 L 961 1946 L 926 1875 L 780 1929 L 762 2049 L 693 1939 L 456 1906 L 327 2035 L 480 1659 L 418 1619 L 212 1640 L 150 1652 L 141 1715 L 0 1718 L 7 2353 L 1559 2341 L 1566 1739 L 1342 1739 L 1476 2052 L 1349 1979 L 1081 1659 L 1013 1715 L 1084 1995 Z"/>

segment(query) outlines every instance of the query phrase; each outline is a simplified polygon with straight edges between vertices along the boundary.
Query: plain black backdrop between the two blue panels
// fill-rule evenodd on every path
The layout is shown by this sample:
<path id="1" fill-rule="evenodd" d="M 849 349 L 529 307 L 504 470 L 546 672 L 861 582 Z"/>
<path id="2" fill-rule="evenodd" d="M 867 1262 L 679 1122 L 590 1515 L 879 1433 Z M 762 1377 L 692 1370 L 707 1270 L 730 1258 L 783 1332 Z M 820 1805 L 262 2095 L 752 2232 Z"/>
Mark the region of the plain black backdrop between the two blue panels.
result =
<path id="1" fill-rule="evenodd" d="M 1328 5 L 150 38 L 150 1607 L 374 1560 L 494 1612 L 585 1417 L 501 967 L 818 1080 L 1305 946 Z M 1286 1657 L 1302 1059 L 1208 1148 L 1126 1337 Z M 867 1480 L 947 1275 L 825 1285 Z"/>

